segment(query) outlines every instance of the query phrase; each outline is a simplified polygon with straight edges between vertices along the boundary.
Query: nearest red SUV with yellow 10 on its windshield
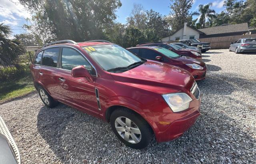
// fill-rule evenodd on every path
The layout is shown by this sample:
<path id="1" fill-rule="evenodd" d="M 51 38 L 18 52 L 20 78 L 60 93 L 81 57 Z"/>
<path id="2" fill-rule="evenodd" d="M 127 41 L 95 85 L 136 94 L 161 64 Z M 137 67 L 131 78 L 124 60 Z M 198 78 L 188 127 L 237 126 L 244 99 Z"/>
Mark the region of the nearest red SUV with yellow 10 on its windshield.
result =
<path id="1" fill-rule="evenodd" d="M 200 115 L 200 91 L 179 67 L 146 60 L 107 41 L 49 43 L 31 65 L 47 107 L 59 102 L 110 122 L 132 148 L 181 136 Z"/>

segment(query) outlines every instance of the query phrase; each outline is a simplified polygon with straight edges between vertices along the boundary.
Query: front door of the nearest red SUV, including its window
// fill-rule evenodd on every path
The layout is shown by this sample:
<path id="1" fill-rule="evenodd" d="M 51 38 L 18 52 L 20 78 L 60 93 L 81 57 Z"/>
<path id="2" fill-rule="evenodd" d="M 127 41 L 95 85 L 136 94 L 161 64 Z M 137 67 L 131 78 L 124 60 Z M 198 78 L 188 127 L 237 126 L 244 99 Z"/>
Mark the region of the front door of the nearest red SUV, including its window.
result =
<path id="1" fill-rule="evenodd" d="M 72 77 L 72 68 L 83 65 L 92 75 L 93 81 L 85 77 Z M 58 71 L 59 94 L 61 98 L 80 108 L 98 113 L 95 94 L 96 71 L 88 60 L 72 47 L 62 47 Z"/>

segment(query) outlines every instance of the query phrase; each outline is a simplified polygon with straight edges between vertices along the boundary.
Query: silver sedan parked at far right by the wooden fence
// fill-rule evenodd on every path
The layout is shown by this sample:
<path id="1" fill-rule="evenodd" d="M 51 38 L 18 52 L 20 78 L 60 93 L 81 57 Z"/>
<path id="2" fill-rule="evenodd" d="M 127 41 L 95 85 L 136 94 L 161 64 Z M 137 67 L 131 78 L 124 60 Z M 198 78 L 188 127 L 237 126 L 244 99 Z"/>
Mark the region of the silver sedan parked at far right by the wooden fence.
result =
<path id="1" fill-rule="evenodd" d="M 230 43 L 229 51 L 256 52 L 256 38 L 238 39 Z"/>

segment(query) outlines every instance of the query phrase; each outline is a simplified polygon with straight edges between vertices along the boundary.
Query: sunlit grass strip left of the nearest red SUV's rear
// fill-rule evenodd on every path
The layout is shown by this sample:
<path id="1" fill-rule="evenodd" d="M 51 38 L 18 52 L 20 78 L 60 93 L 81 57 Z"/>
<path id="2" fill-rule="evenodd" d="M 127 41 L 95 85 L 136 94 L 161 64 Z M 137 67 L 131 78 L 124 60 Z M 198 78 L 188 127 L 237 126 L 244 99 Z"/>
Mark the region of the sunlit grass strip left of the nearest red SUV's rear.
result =
<path id="1" fill-rule="evenodd" d="M 0 102 L 26 95 L 35 90 L 31 76 L 9 82 L 0 82 Z"/>

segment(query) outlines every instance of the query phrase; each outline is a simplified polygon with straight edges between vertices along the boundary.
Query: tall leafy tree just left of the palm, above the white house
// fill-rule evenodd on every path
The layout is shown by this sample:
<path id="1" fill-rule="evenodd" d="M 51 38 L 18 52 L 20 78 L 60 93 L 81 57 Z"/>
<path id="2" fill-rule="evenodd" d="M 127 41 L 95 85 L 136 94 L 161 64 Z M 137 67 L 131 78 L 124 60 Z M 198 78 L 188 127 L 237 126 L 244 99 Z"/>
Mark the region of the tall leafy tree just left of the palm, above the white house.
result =
<path id="1" fill-rule="evenodd" d="M 194 3 L 194 0 L 171 0 L 170 4 L 170 15 L 167 17 L 167 21 L 172 28 L 172 31 L 176 31 L 184 25 L 187 17 L 189 16 L 188 12 Z"/>

